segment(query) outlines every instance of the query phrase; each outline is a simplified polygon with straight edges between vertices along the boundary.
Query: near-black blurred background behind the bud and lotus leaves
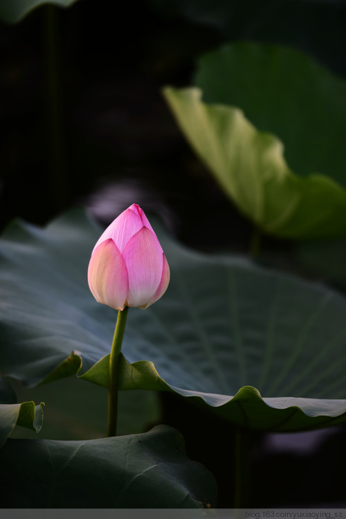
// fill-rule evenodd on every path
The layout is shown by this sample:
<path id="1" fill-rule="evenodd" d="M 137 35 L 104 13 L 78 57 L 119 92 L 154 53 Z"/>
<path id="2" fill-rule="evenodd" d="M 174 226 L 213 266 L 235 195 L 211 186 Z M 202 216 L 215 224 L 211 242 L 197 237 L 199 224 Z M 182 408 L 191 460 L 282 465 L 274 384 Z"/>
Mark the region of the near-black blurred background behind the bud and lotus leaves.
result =
<path id="1" fill-rule="evenodd" d="M 307 51 L 345 77 L 345 14 L 341 0 L 81 0 L 1 24 L 1 229 L 17 216 L 44 225 L 73 204 L 106 225 L 136 202 L 190 247 L 246 252 L 251 225 L 194 157 L 160 90 L 191 85 L 201 53 L 239 39 Z M 218 446 L 233 445 L 232 428 L 162 398 L 164 423 L 217 477 L 219 507 L 231 507 L 232 450 L 225 462 Z M 346 507 L 345 428 L 248 441 L 249 504 Z"/>

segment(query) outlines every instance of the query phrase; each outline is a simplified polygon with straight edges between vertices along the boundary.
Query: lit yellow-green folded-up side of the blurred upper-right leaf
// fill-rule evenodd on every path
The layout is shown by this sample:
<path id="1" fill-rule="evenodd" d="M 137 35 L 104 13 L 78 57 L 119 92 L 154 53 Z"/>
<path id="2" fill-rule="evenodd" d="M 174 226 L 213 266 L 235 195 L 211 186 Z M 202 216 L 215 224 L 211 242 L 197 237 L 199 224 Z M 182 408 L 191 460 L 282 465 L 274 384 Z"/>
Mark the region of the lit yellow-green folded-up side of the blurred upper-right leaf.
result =
<path id="1" fill-rule="evenodd" d="M 346 235 L 346 190 L 331 177 L 295 175 L 282 142 L 237 107 L 204 103 L 198 88 L 164 95 L 192 148 L 255 225 L 284 238 Z"/>

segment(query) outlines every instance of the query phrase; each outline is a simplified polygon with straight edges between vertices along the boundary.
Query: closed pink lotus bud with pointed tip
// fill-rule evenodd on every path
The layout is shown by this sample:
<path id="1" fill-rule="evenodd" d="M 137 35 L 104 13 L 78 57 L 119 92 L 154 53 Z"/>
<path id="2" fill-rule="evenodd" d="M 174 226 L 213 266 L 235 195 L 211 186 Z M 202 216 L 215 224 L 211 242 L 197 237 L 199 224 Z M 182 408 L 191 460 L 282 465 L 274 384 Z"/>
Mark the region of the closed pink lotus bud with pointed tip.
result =
<path id="1" fill-rule="evenodd" d="M 124 310 L 147 308 L 170 282 L 170 267 L 143 209 L 132 204 L 96 243 L 88 270 L 91 292 L 99 303 Z"/>

